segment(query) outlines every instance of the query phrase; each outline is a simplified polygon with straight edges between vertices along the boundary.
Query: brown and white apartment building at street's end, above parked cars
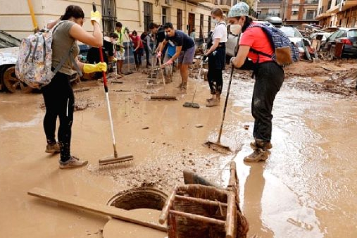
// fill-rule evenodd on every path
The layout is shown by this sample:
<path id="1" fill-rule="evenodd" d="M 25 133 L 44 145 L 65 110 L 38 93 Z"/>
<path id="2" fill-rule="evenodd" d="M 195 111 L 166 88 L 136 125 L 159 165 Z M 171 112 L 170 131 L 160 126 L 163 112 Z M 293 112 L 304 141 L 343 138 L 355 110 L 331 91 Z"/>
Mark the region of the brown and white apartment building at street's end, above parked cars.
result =
<path id="1" fill-rule="evenodd" d="M 283 0 L 283 21 L 288 25 L 318 24 L 318 0 Z"/>

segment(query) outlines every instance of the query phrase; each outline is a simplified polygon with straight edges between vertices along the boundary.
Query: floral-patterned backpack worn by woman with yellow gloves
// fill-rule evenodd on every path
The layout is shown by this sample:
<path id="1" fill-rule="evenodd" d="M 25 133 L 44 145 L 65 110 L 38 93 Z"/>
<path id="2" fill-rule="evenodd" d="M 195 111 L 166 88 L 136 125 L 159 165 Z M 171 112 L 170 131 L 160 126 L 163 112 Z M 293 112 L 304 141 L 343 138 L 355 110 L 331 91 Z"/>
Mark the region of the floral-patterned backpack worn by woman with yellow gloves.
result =
<path id="1" fill-rule="evenodd" d="M 56 69 L 53 72 L 51 71 L 52 35 L 60 24 L 61 22 L 54 27 L 53 31 L 41 30 L 21 41 L 15 73 L 19 80 L 32 88 L 41 89 L 49 84 L 69 57 L 77 72 L 81 74 L 71 54 L 72 47 L 70 47 L 66 56 L 61 59 Z"/>

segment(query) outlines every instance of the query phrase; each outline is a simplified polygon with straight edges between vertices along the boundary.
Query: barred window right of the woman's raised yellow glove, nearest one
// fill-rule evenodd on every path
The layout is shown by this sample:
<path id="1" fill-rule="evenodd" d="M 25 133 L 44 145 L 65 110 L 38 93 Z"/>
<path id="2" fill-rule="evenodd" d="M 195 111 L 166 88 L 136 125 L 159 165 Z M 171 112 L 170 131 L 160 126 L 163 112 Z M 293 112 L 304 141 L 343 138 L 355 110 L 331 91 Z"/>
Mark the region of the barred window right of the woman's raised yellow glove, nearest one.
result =
<path id="1" fill-rule="evenodd" d="M 115 0 L 102 0 L 102 24 L 105 35 L 109 35 L 110 32 L 115 30 L 115 23 Z"/>

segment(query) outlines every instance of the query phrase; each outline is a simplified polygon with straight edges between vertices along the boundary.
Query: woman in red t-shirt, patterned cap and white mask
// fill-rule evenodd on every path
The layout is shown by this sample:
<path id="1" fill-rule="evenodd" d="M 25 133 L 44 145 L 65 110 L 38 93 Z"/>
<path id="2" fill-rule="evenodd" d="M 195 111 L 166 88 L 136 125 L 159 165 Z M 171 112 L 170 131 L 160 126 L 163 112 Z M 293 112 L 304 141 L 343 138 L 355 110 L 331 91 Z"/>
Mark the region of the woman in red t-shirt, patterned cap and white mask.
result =
<path id="1" fill-rule="evenodd" d="M 242 67 L 247 57 L 254 63 L 255 84 L 252 97 L 252 116 L 254 117 L 253 141 L 250 145 L 253 153 L 244 158 L 245 162 L 265 161 L 272 148 L 271 114 L 276 94 L 284 81 L 284 70 L 272 59 L 273 47 L 261 27 L 251 27 L 249 6 L 239 2 L 232 6 L 228 13 L 231 32 L 235 35 L 243 33 L 239 42 L 236 57 L 231 59 L 235 67 Z M 262 54 L 261 54 L 262 53 Z M 245 67 L 245 66 L 244 66 Z"/>

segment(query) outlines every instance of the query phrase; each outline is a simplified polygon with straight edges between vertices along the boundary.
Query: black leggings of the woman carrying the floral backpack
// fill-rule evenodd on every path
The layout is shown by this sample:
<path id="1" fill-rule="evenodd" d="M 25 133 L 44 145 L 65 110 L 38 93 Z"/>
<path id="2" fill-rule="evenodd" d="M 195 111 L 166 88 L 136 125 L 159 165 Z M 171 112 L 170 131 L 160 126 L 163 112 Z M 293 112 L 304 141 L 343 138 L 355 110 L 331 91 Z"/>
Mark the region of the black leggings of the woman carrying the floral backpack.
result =
<path id="1" fill-rule="evenodd" d="M 61 161 L 70 159 L 70 144 L 74 112 L 74 93 L 70 84 L 70 76 L 57 72 L 49 85 L 42 88 L 46 114 L 44 130 L 47 143 L 54 143 L 57 116 L 60 119 L 58 141 L 61 149 Z"/>

